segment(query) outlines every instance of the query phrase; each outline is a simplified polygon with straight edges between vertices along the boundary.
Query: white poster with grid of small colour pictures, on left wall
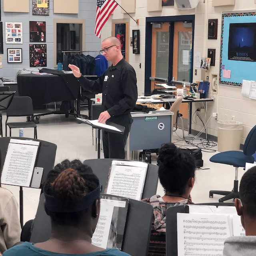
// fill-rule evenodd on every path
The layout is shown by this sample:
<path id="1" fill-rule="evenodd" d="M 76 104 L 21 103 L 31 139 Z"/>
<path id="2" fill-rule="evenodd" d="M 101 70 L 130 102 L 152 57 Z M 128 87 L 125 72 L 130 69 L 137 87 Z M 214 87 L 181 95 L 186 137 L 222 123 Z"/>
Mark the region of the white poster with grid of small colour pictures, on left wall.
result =
<path id="1" fill-rule="evenodd" d="M 5 43 L 22 44 L 22 22 L 5 22 Z"/>

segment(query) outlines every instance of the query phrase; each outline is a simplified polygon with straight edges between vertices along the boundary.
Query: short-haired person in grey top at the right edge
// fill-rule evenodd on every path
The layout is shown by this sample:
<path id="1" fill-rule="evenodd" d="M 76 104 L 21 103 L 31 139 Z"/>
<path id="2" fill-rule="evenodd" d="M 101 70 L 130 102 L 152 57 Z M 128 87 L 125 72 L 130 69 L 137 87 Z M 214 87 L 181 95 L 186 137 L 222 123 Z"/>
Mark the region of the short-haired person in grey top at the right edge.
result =
<path id="1" fill-rule="evenodd" d="M 256 255 L 256 166 L 244 173 L 240 182 L 236 211 L 246 236 L 231 236 L 224 242 L 224 256 Z"/>

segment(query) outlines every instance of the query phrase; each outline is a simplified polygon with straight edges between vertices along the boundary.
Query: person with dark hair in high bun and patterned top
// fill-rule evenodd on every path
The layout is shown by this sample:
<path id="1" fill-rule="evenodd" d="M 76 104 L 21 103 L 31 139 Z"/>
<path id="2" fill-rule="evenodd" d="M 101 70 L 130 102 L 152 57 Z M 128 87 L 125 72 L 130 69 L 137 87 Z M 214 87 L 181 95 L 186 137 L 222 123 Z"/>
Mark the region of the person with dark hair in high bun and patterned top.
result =
<path id="1" fill-rule="evenodd" d="M 158 152 L 158 176 L 165 194 L 142 200 L 154 208 L 149 256 L 166 254 L 166 210 L 169 207 L 191 204 L 190 192 L 194 186 L 196 164 L 190 154 L 182 152 L 173 143 L 162 145 Z"/>

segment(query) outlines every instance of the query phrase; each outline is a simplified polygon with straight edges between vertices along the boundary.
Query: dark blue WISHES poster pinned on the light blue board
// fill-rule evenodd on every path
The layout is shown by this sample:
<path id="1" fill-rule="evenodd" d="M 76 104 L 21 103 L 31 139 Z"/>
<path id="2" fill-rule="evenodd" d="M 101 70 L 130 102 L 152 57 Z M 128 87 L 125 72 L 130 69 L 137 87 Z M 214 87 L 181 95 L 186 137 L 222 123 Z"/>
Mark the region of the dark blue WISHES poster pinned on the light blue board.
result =
<path id="1" fill-rule="evenodd" d="M 232 23 L 228 60 L 256 61 L 256 23 Z"/>

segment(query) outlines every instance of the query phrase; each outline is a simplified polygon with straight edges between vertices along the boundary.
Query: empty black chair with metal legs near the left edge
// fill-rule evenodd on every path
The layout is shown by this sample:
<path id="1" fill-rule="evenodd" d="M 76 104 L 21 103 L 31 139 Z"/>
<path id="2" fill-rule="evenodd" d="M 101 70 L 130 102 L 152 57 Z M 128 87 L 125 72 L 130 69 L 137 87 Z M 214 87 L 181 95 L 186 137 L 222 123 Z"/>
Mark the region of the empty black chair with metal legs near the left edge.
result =
<path id="1" fill-rule="evenodd" d="M 10 116 L 27 116 L 27 122 L 8 123 Z M 34 112 L 32 99 L 28 96 L 14 97 L 6 112 L 5 136 L 7 136 L 7 126 L 10 128 L 34 128 L 34 138 L 37 139 L 36 124 L 34 123 Z"/>

